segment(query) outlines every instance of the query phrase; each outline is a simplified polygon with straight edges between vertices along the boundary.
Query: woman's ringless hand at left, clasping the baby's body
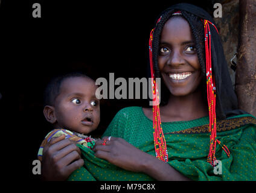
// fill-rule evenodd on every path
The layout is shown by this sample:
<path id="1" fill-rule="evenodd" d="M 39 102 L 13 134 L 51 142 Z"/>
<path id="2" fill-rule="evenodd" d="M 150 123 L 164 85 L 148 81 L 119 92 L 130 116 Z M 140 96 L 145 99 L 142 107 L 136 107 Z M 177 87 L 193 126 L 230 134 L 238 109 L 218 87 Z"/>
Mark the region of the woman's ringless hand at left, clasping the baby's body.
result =
<path id="1" fill-rule="evenodd" d="M 43 180 L 66 180 L 75 169 L 83 166 L 81 151 L 74 141 L 65 139 L 65 135 L 53 138 L 43 148 Z"/>

